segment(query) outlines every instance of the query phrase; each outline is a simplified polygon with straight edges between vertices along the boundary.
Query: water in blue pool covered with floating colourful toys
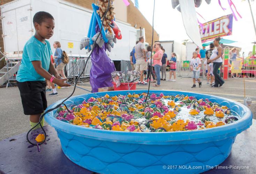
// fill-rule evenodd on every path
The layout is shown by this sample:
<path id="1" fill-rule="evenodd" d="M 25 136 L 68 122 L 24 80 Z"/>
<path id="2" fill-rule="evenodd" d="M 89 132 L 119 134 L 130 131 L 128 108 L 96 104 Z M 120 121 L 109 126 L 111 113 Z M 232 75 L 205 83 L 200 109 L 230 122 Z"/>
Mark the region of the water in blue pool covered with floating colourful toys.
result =
<path id="1" fill-rule="evenodd" d="M 192 96 L 151 93 L 94 98 L 61 106 L 55 117 L 69 124 L 125 132 L 175 132 L 230 124 L 240 116 L 218 103 Z"/>

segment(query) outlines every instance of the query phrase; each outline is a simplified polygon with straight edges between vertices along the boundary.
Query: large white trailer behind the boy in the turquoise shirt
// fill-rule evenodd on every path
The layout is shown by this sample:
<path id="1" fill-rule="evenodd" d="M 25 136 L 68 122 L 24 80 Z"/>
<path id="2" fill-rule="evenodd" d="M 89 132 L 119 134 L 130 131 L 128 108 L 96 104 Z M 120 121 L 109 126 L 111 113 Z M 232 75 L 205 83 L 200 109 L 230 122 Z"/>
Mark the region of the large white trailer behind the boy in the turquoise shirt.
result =
<path id="1" fill-rule="evenodd" d="M 52 51 L 54 41 L 60 41 L 62 50 L 71 57 L 87 57 L 80 50 L 80 40 L 88 33 L 92 10 L 63 0 L 16 0 L 1 6 L 3 41 L 7 58 L 21 59 L 23 47 L 35 34 L 33 16 L 38 11 L 47 11 L 55 19 L 53 37 L 48 41 Z M 130 24 L 116 20 L 122 31 L 109 57 L 113 61 L 129 61 L 129 53 L 136 42 L 137 30 Z"/>

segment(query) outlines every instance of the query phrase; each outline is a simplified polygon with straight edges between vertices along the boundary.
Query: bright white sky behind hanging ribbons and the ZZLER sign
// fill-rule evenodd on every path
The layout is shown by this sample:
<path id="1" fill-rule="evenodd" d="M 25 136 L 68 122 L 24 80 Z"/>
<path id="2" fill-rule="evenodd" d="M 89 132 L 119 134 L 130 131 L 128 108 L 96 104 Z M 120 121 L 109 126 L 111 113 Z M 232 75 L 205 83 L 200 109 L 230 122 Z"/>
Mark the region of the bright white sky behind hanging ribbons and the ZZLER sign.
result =
<path id="1" fill-rule="evenodd" d="M 138 2 L 141 13 L 152 25 L 154 0 L 138 0 Z M 251 42 L 256 41 L 249 3 L 248 0 L 233 0 L 233 2 L 242 18 L 238 15 L 236 15 L 238 21 L 235 21 L 233 18 L 233 33 L 223 38 L 237 41 L 229 45 L 241 47 L 242 52 L 247 56 L 249 51 L 253 49 Z M 221 0 L 221 5 L 226 8 L 225 11 L 219 6 L 218 0 L 211 0 L 209 5 L 205 0 L 202 0 L 202 4 L 199 8 L 196 8 L 196 12 L 203 16 L 205 20 L 197 15 L 198 20 L 201 23 L 205 23 L 212 19 L 232 14 L 227 0 Z M 256 20 L 256 0 L 251 2 L 251 8 L 253 10 L 254 19 Z M 161 41 L 175 40 L 182 43 L 182 40 L 189 39 L 183 25 L 181 13 L 177 9 L 172 8 L 171 0 L 156 0 L 154 29 L 158 32 L 159 40 Z"/>

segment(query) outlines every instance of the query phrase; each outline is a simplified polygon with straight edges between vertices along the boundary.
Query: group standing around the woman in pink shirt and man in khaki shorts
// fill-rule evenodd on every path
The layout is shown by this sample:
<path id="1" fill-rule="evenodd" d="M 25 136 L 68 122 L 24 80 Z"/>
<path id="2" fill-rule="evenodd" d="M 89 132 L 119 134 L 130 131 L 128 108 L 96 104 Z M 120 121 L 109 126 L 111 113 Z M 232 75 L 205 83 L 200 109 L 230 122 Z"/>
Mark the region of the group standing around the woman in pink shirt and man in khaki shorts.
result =
<path id="1" fill-rule="evenodd" d="M 145 48 L 144 38 L 140 37 L 130 52 L 130 61 L 131 69 L 141 73 L 139 85 L 147 85 L 152 77 L 152 82 L 156 83 L 154 86 L 160 86 L 161 80 L 167 80 L 166 67 L 168 63 L 170 65 L 170 78 L 168 80 L 176 81 L 176 54 L 172 53 L 172 58 L 168 60 L 165 49 L 160 42 L 156 42 L 152 47 Z M 172 74 L 173 80 L 171 80 Z"/>

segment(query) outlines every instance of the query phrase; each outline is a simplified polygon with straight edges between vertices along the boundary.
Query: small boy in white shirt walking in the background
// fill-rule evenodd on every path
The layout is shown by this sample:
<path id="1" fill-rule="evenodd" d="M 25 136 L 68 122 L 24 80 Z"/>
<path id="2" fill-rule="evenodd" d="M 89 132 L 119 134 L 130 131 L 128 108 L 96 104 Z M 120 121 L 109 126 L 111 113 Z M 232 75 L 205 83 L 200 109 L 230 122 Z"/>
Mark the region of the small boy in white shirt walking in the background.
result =
<path id="1" fill-rule="evenodd" d="M 192 78 L 193 78 L 194 85 L 191 88 L 196 87 L 196 79 L 198 81 L 199 88 L 202 86 L 202 82 L 199 79 L 200 67 L 201 67 L 200 58 L 197 57 L 197 52 L 193 52 L 193 58 L 190 61 L 190 69 L 193 71 Z"/>

